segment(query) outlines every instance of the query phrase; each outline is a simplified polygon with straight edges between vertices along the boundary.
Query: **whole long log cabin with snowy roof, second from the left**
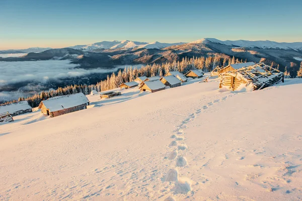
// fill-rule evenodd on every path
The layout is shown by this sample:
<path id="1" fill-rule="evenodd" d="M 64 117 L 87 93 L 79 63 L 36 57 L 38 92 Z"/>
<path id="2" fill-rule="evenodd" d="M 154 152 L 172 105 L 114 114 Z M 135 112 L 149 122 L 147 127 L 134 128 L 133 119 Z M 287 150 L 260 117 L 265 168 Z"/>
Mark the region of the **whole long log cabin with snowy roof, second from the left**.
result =
<path id="1" fill-rule="evenodd" d="M 72 113 L 79 110 L 87 109 L 89 105 L 88 98 L 84 93 L 75 93 L 70 95 L 61 95 L 43 100 L 39 109 L 41 113 L 56 117 L 67 113 Z"/>

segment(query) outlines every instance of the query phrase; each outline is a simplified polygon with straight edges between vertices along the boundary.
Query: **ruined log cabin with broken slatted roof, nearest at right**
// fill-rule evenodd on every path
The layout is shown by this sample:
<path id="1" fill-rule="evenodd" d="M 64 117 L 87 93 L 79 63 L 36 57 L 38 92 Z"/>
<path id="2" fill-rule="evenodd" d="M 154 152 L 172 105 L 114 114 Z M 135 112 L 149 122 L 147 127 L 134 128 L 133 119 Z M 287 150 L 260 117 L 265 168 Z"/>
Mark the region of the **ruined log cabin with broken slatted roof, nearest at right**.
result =
<path id="1" fill-rule="evenodd" d="M 232 72 L 224 72 L 219 76 L 219 88 L 226 87 L 231 90 L 237 90 L 241 85 L 250 86 L 257 90 L 281 81 L 284 82 L 282 72 L 264 63 L 257 63 Z"/>

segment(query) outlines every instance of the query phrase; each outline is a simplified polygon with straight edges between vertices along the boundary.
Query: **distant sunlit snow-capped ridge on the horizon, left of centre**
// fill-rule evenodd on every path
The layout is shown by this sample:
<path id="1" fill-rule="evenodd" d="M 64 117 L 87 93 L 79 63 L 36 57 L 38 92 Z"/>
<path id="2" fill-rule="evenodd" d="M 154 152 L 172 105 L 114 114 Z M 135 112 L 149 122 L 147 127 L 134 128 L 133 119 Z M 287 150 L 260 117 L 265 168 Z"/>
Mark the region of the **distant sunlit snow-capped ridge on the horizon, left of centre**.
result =
<path id="1" fill-rule="evenodd" d="M 83 49 L 83 50 L 94 50 L 94 49 L 117 49 L 117 48 L 123 48 L 123 49 L 131 49 L 131 48 L 145 48 L 145 49 L 152 49 L 152 48 L 165 48 L 172 45 L 181 45 L 184 43 L 160 43 L 160 42 L 154 42 L 154 43 L 146 43 L 146 42 L 137 42 L 137 41 L 102 41 L 99 43 L 93 43 L 89 45 L 75 45 L 71 46 L 69 48 L 73 49 Z"/>

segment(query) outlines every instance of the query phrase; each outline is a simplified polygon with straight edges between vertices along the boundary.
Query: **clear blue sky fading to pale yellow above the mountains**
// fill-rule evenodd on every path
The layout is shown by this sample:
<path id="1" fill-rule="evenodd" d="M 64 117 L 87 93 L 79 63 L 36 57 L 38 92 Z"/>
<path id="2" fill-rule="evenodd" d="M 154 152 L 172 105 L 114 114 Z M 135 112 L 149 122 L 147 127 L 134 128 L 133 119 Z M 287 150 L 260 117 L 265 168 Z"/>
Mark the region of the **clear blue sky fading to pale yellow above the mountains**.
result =
<path id="1" fill-rule="evenodd" d="M 302 0 L 0 0 L 0 49 L 100 41 L 302 41 Z"/>

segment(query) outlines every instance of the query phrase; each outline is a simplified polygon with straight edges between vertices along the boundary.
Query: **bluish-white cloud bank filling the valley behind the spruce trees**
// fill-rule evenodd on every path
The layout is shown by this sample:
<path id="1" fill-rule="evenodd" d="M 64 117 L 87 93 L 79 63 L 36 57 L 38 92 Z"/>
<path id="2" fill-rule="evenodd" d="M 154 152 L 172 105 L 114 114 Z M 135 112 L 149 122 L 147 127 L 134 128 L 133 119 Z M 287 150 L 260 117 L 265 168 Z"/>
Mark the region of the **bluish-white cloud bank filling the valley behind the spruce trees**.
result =
<path id="1" fill-rule="evenodd" d="M 42 85 L 47 81 L 83 77 L 92 73 L 110 73 L 125 68 L 123 65 L 113 68 L 83 69 L 78 68 L 78 64 L 69 62 L 70 60 L 0 61 L 0 102 L 45 90 L 43 88 L 45 86 Z M 136 66 L 139 68 L 141 65 Z M 9 90 L 14 84 L 18 84 L 18 91 Z"/>

